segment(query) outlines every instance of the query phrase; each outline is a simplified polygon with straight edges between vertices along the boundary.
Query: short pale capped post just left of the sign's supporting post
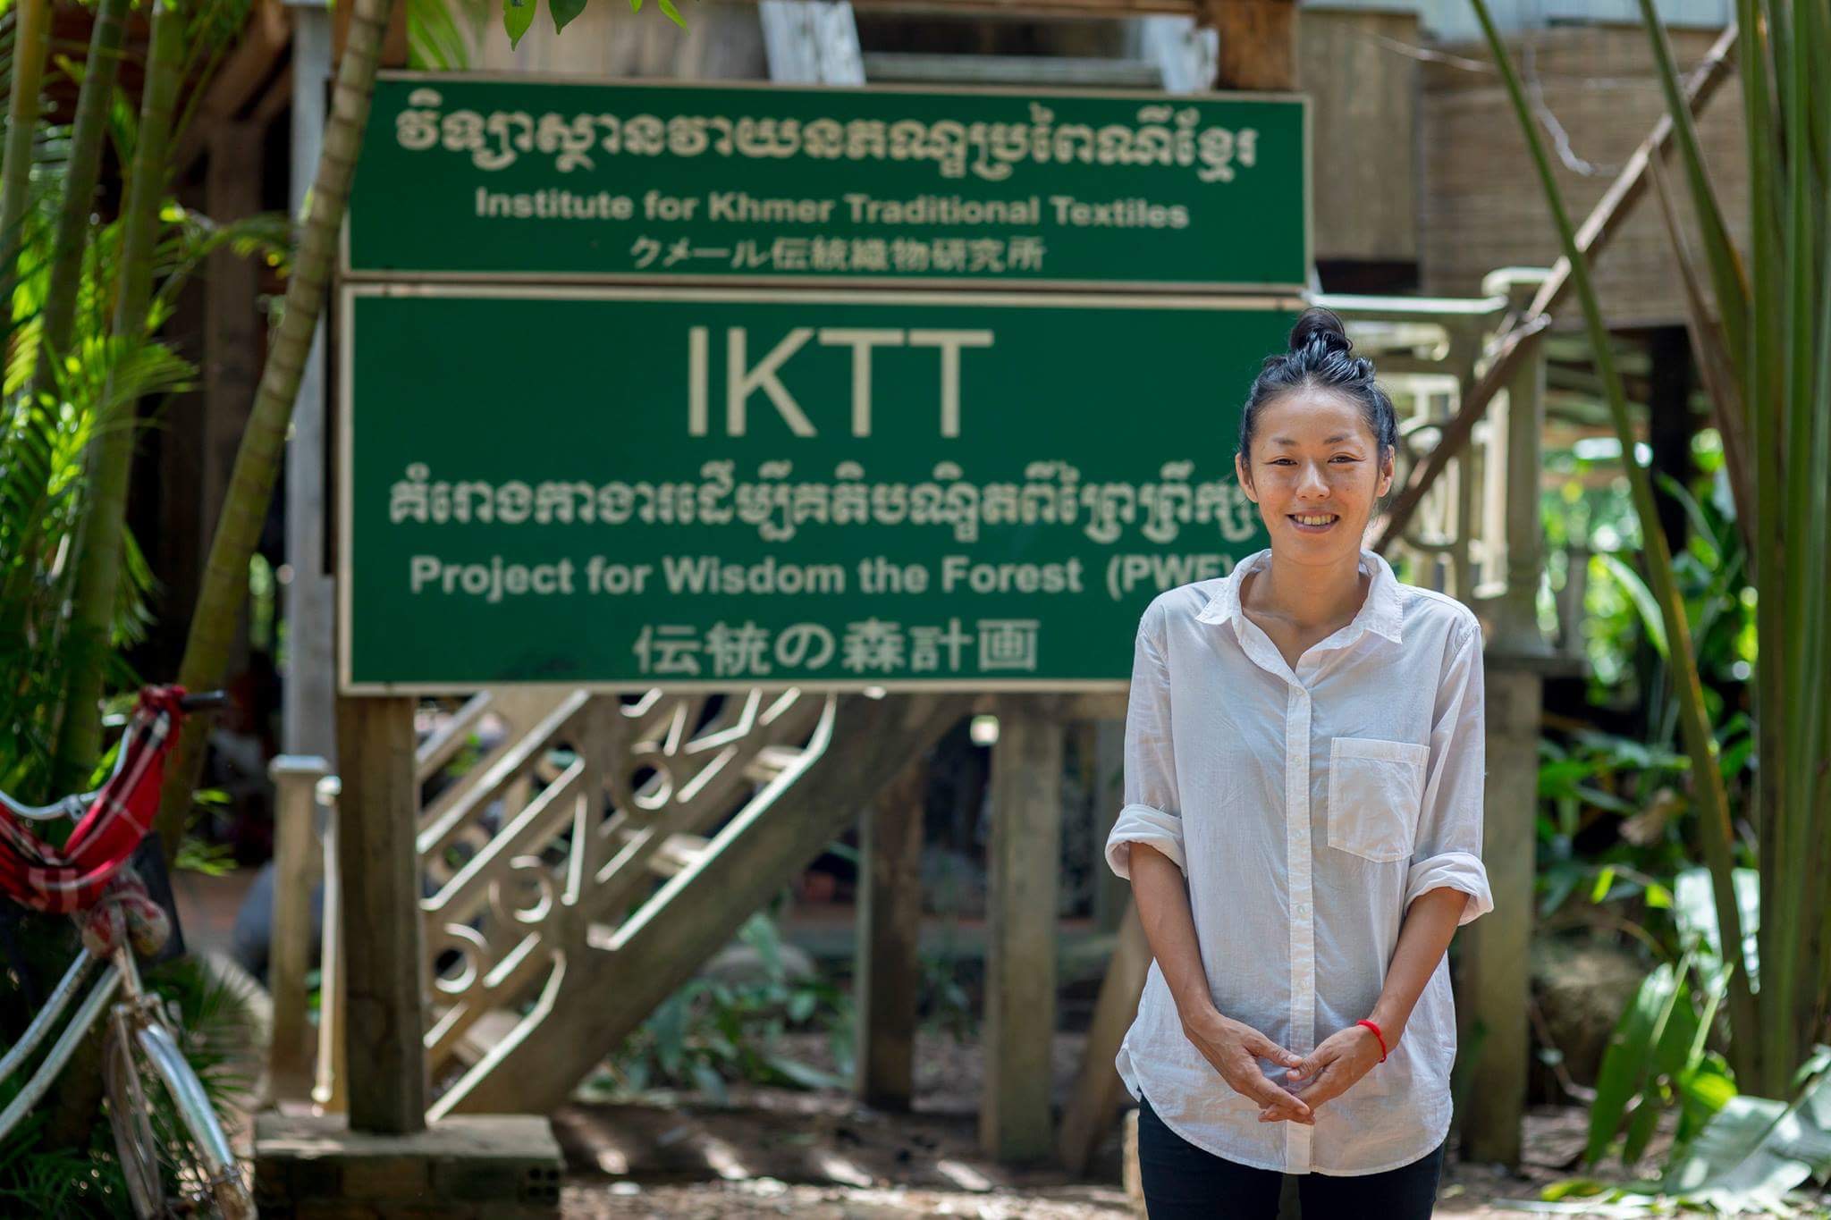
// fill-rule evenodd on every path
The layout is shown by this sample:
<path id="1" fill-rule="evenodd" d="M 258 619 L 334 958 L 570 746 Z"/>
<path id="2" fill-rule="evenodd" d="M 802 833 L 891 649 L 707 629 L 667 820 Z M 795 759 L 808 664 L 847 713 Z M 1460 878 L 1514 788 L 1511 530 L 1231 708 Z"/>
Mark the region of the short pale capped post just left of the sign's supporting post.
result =
<path id="1" fill-rule="evenodd" d="M 297 754 L 282 754 L 267 765 L 275 785 L 273 922 L 267 931 L 273 1039 L 267 1046 L 267 1081 L 275 1101 L 302 1101 L 311 1096 L 306 971 L 311 968 L 311 887 L 322 871 L 317 783 L 328 770 L 324 759 Z"/>

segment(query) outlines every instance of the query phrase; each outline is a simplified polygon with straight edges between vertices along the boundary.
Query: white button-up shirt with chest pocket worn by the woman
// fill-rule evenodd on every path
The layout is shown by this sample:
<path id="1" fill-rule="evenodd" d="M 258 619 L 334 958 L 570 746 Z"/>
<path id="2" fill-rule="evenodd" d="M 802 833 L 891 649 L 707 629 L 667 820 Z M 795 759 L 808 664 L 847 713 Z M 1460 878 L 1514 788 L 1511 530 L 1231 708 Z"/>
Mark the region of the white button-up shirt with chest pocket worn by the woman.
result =
<path id="1" fill-rule="evenodd" d="M 1293 673 L 1240 609 L 1240 582 L 1269 560 L 1260 551 L 1146 607 L 1126 805 L 1106 858 L 1126 878 L 1132 843 L 1174 860 L 1216 1008 L 1304 1055 L 1371 1013 L 1414 898 L 1465 891 L 1463 924 L 1494 907 L 1481 865 L 1481 629 L 1461 602 L 1399 583 L 1362 551 L 1366 602 Z M 1260 1105 L 1185 1037 L 1152 962 L 1117 1066 L 1196 1147 L 1258 1169 L 1370 1174 L 1448 1134 L 1454 1059 L 1439 960 L 1386 1063 L 1316 1107 L 1315 1127 L 1262 1123 Z M 1260 1070 L 1285 1083 L 1284 1068 Z"/>

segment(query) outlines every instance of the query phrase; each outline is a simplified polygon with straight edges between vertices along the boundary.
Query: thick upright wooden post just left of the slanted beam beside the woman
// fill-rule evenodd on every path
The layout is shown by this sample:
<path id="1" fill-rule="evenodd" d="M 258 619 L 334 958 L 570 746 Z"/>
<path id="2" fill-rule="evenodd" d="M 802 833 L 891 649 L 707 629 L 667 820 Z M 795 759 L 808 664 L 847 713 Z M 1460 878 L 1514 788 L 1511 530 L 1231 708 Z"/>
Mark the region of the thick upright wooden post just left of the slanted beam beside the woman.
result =
<path id="1" fill-rule="evenodd" d="M 1062 726 L 1047 710 L 1036 697 L 1000 701 L 992 746 L 980 1145 L 1003 1161 L 1038 1160 L 1055 1150 L 1049 1048 L 1062 865 Z"/>

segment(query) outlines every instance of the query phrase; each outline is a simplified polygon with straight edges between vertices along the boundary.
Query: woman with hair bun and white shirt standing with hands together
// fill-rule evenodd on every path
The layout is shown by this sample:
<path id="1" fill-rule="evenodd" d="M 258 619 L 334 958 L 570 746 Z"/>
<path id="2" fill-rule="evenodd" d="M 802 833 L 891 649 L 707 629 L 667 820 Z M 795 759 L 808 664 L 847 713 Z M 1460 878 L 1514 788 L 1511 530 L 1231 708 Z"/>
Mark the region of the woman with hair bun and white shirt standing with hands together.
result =
<path id="1" fill-rule="evenodd" d="M 1139 624 L 1106 843 L 1154 964 L 1119 1074 L 1154 1220 L 1428 1216 L 1445 951 L 1490 911 L 1481 629 L 1360 541 L 1399 426 L 1342 322 L 1269 357 L 1234 466 L 1271 547 Z M 1269 1065 L 1269 1066 L 1267 1066 Z"/>

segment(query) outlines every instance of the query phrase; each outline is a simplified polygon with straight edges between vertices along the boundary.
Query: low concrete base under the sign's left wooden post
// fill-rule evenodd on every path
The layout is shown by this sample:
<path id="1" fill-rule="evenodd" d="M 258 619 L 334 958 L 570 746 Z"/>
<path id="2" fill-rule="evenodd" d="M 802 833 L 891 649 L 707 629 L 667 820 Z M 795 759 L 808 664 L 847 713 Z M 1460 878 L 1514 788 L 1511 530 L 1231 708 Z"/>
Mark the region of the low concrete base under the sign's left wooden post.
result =
<path id="1" fill-rule="evenodd" d="M 454 1116 L 417 1136 L 352 1134 L 342 1116 L 255 1118 L 265 1220 L 557 1220 L 562 1171 L 538 1116 Z"/>

